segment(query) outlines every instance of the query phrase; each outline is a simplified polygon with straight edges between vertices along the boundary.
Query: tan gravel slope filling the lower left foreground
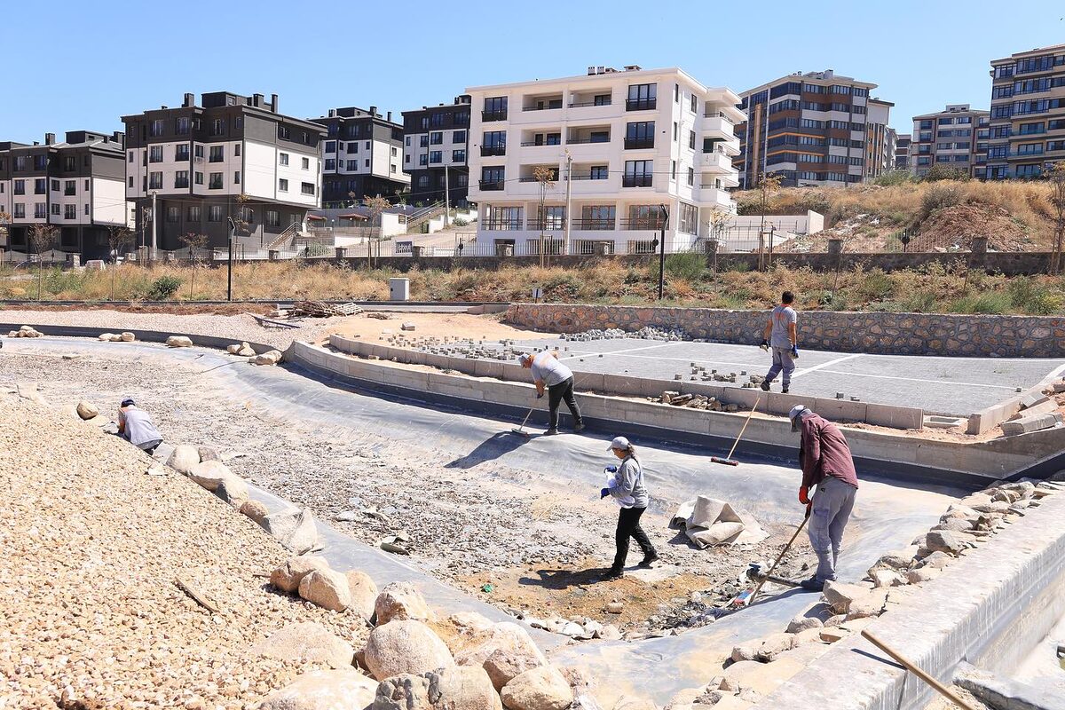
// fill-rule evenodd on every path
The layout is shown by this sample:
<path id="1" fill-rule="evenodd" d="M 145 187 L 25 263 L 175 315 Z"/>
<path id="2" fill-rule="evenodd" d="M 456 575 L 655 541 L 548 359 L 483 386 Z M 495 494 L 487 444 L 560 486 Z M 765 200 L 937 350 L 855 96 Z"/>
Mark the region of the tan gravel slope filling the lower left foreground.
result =
<path id="1" fill-rule="evenodd" d="M 250 709 L 315 667 L 248 653 L 281 626 L 361 645 L 354 614 L 256 577 L 289 554 L 195 483 L 55 409 L 0 394 L 0 707 Z"/>

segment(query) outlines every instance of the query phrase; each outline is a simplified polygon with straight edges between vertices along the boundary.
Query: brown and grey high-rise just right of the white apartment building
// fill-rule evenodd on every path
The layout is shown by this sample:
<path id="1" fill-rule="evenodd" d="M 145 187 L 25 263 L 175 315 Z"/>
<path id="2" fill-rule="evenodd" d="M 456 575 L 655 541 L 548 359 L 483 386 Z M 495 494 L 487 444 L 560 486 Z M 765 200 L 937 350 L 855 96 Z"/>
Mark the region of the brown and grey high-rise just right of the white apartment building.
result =
<path id="1" fill-rule="evenodd" d="M 876 84 L 837 76 L 833 70 L 796 72 L 743 92 L 746 120 L 740 139 L 740 187 L 758 184 L 761 175 L 779 175 L 781 184 L 848 185 L 879 175 L 886 144 L 873 137 L 886 127 L 891 104 L 870 100 Z M 875 103 L 873 103 L 875 102 Z M 869 120 L 870 110 L 876 120 Z"/>

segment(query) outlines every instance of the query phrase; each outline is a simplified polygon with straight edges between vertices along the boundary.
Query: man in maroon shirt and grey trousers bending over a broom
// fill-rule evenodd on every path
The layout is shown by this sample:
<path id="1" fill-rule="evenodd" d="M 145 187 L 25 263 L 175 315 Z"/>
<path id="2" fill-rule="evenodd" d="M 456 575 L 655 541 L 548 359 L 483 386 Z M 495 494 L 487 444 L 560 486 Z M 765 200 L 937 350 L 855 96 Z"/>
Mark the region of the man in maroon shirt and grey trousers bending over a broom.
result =
<path id="1" fill-rule="evenodd" d="M 810 507 L 810 489 L 816 489 L 809 515 L 809 543 L 817 555 L 817 574 L 802 581 L 802 588 L 820 592 L 824 582 L 835 581 L 836 561 L 843 529 L 854 508 L 858 478 L 851 448 L 839 427 L 796 404 L 788 414 L 791 431 L 802 432 L 799 465 L 802 486 L 799 502 Z"/>

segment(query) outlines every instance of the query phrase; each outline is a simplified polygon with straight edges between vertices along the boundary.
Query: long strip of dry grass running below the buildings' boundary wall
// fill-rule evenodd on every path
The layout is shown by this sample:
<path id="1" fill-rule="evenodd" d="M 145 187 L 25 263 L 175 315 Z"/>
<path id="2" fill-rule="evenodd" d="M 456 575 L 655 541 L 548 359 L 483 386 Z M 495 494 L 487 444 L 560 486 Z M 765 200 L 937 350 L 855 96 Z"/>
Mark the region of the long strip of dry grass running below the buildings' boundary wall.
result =
<path id="1" fill-rule="evenodd" d="M 727 261 L 727 260 L 725 260 Z M 226 297 L 226 270 L 199 268 L 190 294 L 187 266 L 141 268 L 125 265 L 116 270 L 46 271 L 46 300 L 108 300 L 114 277 L 115 299 L 149 302 L 159 279 L 177 279 L 174 298 L 181 301 L 222 300 Z M 656 302 L 656 265 L 626 266 L 612 260 L 590 260 L 580 268 L 507 266 L 499 269 L 393 269 L 350 268 L 333 264 L 265 262 L 241 264 L 233 269 L 233 296 L 237 299 L 345 299 L 384 300 L 389 278 L 410 279 L 411 298 L 421 301 L 527 301 L 534 287 L 545 300 L 643 304 Z M 1055 277 L 988 276 L 969 273 L 964 262 L 944 268 L 884 273 L 861 267 L 835 274 L 775 265 L 767 273 L 722 270 L 714 276 L 698 254 L 667 259 L 666 300 L 671 306 L 748 309 L 765 308 L 784 290 L 797 294 L 806 310 L 879 310 L 954 313 L 1065 313 L 1065 281 Z M 0 273 L 0 298 L 33 298 L 33 274 Z"/>

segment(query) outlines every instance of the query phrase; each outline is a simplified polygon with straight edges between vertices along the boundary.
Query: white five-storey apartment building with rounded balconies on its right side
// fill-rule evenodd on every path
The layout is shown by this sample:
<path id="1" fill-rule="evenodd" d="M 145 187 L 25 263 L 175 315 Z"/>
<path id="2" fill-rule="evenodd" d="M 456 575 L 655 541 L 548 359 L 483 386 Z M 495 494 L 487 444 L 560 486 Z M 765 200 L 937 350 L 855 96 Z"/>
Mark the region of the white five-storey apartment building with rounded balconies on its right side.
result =
<path id="1" fill-rule="evenodd" d="M 649 252 L 668 211 L 667 250 L 733 214 L 739 97 L 677 68 L 589 67 L 583 77 L 474 86 L 470 201 L 477 242 L 535 252 Z M 550 171 L 543 187 L 537 168 Z"/>

